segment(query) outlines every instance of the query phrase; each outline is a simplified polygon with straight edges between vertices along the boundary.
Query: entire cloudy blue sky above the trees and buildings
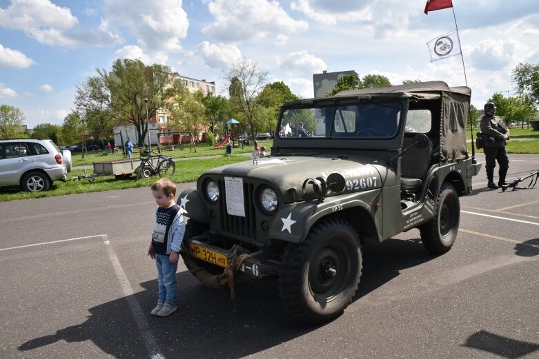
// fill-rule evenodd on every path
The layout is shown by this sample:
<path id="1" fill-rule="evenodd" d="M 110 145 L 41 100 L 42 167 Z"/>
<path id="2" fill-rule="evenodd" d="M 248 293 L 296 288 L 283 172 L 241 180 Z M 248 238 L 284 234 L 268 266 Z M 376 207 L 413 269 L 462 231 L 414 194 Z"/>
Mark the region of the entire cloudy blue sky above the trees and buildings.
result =
<path id="1" fill-rule="evenodd" d="M 464 85 L 460 56 L 430 62 L 427 41 L 455 30 L 426 0 L 0 0 L 0 104 L 26 125 L 61 124 L 75 86 L 117 58 L 215 81 L 244 57 L 313 96 L 313 73 L 355 70 Z M 511 70 L 539 63 L 539 3 L 453 0 L 472 103 L 513 94 Z M 507 92 L 509 91 L 509 92 Z"/>

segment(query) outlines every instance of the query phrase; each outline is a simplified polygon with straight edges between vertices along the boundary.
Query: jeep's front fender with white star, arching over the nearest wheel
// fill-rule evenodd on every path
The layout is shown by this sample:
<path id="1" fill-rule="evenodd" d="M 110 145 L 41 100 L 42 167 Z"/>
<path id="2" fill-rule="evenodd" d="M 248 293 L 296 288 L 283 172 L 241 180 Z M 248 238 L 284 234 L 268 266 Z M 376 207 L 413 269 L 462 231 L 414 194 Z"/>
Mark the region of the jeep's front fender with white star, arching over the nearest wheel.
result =
<path id="1" fill-rule="evenodd" d="M 372 216 L 369 204 L 353 194 L 326 198 L 325 203 L 300 202 L 284 205 L 272 221 L 268 238 L 301 243 L 318 220 L 326 216 L 340 216 L 351 209 L 360 209 L 369 216 L 378 235 L 378 221 Z M 329 201 L 328 201 L 329 200 Z M 351 223 L 355 227 L 355 223 Z"/>

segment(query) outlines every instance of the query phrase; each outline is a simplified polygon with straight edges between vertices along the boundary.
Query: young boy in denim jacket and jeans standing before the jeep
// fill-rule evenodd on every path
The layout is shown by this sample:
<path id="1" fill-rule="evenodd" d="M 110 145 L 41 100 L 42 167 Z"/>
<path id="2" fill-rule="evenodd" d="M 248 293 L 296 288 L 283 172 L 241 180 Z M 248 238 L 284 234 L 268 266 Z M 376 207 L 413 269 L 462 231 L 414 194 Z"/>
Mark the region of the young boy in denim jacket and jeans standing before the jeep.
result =
<path id="1" fill-rule="evenodd" d="M 177 309 L 176 305 L 176 270 L 178 252 L 182 247 L 185 234 L 185 222 L 179 205 L 174 203 L 176 185 L 168 178 L 161 178 L 151 187 L 157 210 L 152 243 L 148 256 L 155 259 L 157 265 L 157 283 L 159 296 L 157 307 L 150 314 L 168 316 Z"/>

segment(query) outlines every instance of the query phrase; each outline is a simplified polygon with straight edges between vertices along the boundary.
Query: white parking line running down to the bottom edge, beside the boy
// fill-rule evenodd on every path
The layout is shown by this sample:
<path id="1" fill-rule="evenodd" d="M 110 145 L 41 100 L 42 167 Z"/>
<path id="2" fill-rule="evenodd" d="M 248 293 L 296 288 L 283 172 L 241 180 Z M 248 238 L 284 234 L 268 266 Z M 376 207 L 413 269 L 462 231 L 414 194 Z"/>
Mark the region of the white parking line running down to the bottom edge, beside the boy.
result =
<path id="1" fill-rule="evenodd" d="M 155 337 L 153 336 L 146 317 L 144 316 L 144 314 L 142 314 L 142 309 L 140 308 L 139 301 L 135 297 L 135 292 L 133 291 L 133 288 L 131 288 L 129 280 L 126 276 L 126 272 L 121 267 L 120 261 L 118 260 L 118 257 L 114 252 L 114 248 L 112 248 L 112 246 L 110 245 L 110 240 L 108 240 L 107 238 L 108 236 L 103 236 L 103 241 L 107 249 L 108 258 L 110 259 L 110 263 L 112 263 L 112 267 L 114 268 L 115 274 L 119 280 L 121 290 L 124 292 L 124 296 L 126 297 L 129 308 L 131 309 L 133 319 L 137 323 L 137 327 L 139 327 L 139 332 L 141 334 L 142 340 L 144 340 L 144 347 L 146 347 L 146 351 L 150 353 L 151 359 L 164 359 L 165 357 L 161 353 L 159 353 L 160 349 L 159 345 L 157 345 L 157 340 L 155 340 Z"/>

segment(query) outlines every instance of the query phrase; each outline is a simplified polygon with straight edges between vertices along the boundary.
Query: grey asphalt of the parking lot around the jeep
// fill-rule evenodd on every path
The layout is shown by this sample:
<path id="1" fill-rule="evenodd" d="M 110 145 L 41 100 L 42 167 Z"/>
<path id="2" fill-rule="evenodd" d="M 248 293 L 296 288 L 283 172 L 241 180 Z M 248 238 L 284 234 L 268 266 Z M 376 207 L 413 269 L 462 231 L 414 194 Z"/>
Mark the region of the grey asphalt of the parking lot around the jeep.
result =
<path id="1" fill-rule="evenodd" d="M 539 168 L 510 159 L 509 180 Z M 539 358 L 539 184 L 485 186 L 482 169 L 443 256 L 417 229 L 367 242 L 355 301 L 319 327 L 284 314 L 275 281 L 231 300 L 183 264 L 179 310 L 150 316 L 148 188 L 0 203 L 0 358 Z"/>

